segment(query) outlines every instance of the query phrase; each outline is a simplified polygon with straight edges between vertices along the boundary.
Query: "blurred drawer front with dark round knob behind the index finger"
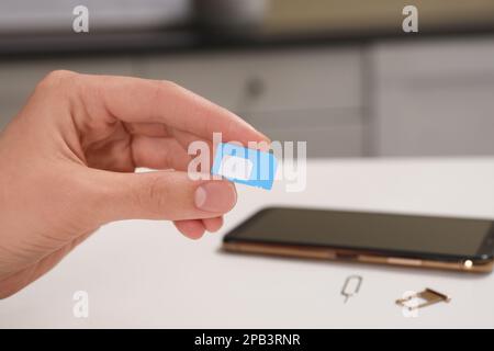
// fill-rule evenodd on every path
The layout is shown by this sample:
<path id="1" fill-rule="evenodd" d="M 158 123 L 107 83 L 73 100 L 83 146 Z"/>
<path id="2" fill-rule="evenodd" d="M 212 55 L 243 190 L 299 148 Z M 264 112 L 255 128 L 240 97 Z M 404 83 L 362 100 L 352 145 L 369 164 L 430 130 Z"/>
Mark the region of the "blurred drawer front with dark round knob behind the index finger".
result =
<path id="1" fill-rule="evenodd" d="M 141 60 L 139 70 L 236 111 L 246 103 L 250 111 L 360 105 L 358 48 L 156 55 Z M 252 84 L 260 89 L 257 94 Z"/>

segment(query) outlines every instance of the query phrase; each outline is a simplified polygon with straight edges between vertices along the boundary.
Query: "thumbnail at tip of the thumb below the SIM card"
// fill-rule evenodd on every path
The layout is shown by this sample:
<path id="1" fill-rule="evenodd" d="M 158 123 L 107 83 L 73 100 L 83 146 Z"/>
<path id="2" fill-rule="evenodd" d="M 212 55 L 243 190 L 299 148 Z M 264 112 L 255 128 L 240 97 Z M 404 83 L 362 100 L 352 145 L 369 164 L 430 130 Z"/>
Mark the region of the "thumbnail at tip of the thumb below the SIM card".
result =
<path id="1" fill-rule="evenodd" d="M 195 190 L 194 202 L 199 210 L 224 213 L 235 205 L 237 193 L 229 182 L 207 182 Z"/>

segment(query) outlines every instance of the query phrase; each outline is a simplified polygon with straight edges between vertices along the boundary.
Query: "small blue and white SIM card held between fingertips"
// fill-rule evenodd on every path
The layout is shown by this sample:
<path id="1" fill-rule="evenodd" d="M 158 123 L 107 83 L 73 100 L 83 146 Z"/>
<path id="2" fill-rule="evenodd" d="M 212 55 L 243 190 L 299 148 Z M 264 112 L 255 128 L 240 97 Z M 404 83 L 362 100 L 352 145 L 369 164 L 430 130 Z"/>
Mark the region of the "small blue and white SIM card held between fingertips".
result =
<path id="1" fill-rule="evenodd" d="M 211 173 L 236 183 L 271 190 L 277 166 L 271 152 L 220 143 Z"/>

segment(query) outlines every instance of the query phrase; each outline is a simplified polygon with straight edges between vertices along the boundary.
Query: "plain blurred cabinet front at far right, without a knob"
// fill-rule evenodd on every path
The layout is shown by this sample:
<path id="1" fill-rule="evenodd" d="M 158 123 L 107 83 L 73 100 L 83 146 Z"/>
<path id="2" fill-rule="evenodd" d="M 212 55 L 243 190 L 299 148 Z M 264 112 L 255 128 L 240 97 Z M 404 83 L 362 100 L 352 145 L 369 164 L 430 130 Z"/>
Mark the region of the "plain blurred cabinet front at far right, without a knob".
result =
<path id="1" fill-rule="evenodd" d="M 494 155 L 494 38 L 377 45 L 377 156 Z"/>

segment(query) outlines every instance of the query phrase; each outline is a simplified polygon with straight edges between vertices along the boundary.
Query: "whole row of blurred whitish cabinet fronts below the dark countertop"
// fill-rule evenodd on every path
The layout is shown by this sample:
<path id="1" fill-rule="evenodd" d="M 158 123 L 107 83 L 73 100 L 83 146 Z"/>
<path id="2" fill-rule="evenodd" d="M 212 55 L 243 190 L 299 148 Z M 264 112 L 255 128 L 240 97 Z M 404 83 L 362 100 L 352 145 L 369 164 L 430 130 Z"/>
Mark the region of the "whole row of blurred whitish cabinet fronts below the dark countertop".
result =
<path id="1" fill-rule="evenodd" d="M 0 60 L 0 129 L 61 68 L 176 81 L 311 157 L 494 155 L 493 36 Z"/>

